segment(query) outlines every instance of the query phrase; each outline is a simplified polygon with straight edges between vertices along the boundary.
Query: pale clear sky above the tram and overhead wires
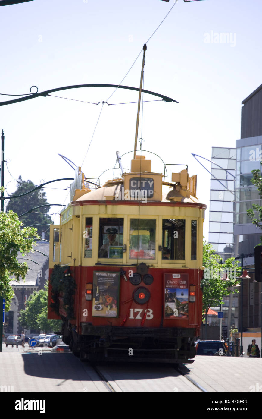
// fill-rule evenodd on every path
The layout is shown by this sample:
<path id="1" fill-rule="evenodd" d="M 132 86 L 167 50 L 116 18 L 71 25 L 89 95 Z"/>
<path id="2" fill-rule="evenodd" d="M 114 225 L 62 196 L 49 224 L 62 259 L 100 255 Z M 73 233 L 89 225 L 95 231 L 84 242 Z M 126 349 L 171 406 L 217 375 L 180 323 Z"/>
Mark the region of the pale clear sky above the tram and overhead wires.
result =
<path id="1" fill-rule="evenodd" d="M 34 0 L 0 7 L 0 93 L 29 93 L 32 85 L 41 92 L 83 83 L 119 84 L 173 4 Z M 240 138 L 241 101 L 262 83 L 261 12 L 261 0 L 179 0 L 147 43 L 144 88 L 179 103 L 144 103 L 144 149 L 165 163 L 188 164 L 190 176 L 198 175 L 197 196 L 208 206 L 210 175 L 191 153 L 210 159 L 212 146 L 235 147 Z M 223 33 L 230 34 L 228 40 Z M 141 61 L 142 54 L 123 85 L 139 87 Z M 97 103 L 111 93 L 110 88 L 83 88 L 54 94 Z M 0 96 L 0 101 L 11 98 Z M 137 99 L 136 92 L 118 89 L 108 103 Z M 144 95 L 145 101 L 154 99 Z M 55 97 L 1 106 L 5 160 L 10 160 L 13 178 L 21 175 L 40 184 L 73 177 L 58 153 L 82 165 L 101 107 Z M 136 113 L 137 104 L 103 106 L 82 166 L 85 176 L 112 168 L 116 150 L 134 149 Z M 123 158 L 125 168 L 130 168 L 131 156 Z M 153 158 L 152 170 L 163 171 L 161 160 Z M 113 176 L 106 172 L 101 181 Z M 5 169 L 8 193 L 16 189 L 13 178 Z M 67 188 L 69 183 L 50 187 Z M 51 204 L 69 201 L 69 189 L 45 191 Z M 50 214 L 58 209 L 51 207 Z M 59 217 L 52 219 L 58 222 Z M 208 212 L 205 220 L 208 239 Z"/>

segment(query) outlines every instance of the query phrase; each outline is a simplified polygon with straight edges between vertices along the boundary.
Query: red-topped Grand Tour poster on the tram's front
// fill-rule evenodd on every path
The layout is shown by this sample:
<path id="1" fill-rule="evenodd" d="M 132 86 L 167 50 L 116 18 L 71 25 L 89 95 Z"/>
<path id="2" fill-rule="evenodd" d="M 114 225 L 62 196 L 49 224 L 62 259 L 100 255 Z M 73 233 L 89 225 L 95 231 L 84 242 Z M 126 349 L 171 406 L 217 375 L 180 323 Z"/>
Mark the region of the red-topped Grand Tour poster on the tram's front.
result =
<path id="1" fill-rule="evenodd" d="M 188 319 L 188 274 L 164 274 L 164 318 Z"/>

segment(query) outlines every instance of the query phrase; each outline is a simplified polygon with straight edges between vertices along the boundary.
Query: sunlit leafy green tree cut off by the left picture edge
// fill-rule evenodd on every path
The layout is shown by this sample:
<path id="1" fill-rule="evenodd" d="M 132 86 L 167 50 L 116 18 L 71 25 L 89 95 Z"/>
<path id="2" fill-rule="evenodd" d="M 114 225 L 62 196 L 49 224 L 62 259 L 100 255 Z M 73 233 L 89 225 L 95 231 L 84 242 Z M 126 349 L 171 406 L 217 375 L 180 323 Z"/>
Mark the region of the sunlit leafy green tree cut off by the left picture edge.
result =
<path id="1" fill-rule="evenodd" d="M 10 276 L 25 279 L 28 266 L 26 262 L 19 263 L 18 252 L 23 256 L 33 250 L 37 236 L 36 228 L 21 228 L 22 223 L 13 211 L 0 212 L 0 295 L 5 298 L 6 311 L 14 295 L 10 285 Z"/>

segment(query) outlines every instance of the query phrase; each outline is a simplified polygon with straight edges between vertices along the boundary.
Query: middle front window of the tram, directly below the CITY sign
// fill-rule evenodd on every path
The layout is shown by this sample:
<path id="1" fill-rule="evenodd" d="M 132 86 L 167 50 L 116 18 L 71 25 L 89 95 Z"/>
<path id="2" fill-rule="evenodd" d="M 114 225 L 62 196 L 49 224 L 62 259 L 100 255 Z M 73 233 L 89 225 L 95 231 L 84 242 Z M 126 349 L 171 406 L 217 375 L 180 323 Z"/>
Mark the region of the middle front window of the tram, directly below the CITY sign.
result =
<path id="1" fill-rule="evenodd" d="M 156 259 L 156 220 L 131 218 L 130 259 Z"/>

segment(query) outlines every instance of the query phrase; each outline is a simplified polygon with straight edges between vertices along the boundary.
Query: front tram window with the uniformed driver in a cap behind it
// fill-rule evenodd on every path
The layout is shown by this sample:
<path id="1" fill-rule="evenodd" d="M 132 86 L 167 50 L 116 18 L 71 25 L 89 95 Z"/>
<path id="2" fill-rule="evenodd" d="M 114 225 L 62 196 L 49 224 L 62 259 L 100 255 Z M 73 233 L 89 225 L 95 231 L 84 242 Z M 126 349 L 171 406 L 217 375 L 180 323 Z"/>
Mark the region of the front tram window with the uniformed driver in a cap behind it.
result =
<path id="1" fill-rule="evenodd" d="M 99 258 L 123 258 L 123 218 L 100 218 Z"/>

